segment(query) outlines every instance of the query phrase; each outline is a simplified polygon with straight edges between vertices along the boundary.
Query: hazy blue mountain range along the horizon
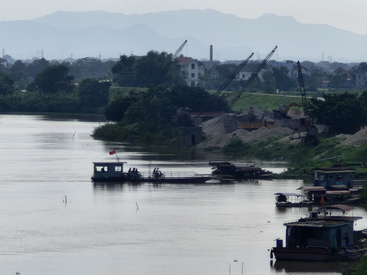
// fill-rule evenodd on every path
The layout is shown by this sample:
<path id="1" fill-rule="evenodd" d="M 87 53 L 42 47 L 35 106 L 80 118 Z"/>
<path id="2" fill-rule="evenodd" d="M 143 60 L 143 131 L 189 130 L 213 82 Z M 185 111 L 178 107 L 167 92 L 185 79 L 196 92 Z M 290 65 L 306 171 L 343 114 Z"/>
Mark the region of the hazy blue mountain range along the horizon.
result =
<path id="1" fill-rule="evenodd" d="M 58 11 L 29 21 L 0 23 L 0 47 L 15 59 L 31 58 L 42 49 L 46 59 L 144 55 L 150 50 L 225 61 L 260 59 L 275 47 L 272 59 L 338 62 L 366 61 L 367 36 L 320 24 L 301 24 L 292 17 L 266 14 L 239 18 L 215 10 L 176 10 L 124 15 L 106 11 Z"/>

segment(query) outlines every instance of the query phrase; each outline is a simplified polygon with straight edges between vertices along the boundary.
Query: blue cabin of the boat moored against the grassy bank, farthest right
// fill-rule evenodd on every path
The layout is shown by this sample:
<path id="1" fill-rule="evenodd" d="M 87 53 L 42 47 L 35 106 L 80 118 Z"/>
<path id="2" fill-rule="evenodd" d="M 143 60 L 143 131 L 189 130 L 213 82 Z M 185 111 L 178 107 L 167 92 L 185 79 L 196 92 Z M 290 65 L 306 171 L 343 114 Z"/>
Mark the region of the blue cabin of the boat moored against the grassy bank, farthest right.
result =
<path id="1" fill-rule="evenodd" d="M 343 184 L 348 188 L 353 186 L 355 170 L 344 170 L 341 167 L 315 168 L 313 186 L 334 186 Z"/>

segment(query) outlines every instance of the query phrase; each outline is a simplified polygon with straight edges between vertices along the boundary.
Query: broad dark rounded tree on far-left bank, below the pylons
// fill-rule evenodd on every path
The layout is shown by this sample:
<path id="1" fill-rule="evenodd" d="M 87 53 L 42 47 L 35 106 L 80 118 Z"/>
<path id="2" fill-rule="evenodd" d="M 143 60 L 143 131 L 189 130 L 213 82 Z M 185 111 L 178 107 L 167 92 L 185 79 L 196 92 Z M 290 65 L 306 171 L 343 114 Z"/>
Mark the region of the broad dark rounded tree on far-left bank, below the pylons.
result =
<path id="1" fill-rule="evenodd" d="M 27 87 L 29 91 L 39 90 L 42 93 L 56 94 L 57 92 L 71 92 L 74 88 L 73 76 L 68 75 L 69 68 L 65 65 L 47 67 L 36 75 L 34 81 Z"/>

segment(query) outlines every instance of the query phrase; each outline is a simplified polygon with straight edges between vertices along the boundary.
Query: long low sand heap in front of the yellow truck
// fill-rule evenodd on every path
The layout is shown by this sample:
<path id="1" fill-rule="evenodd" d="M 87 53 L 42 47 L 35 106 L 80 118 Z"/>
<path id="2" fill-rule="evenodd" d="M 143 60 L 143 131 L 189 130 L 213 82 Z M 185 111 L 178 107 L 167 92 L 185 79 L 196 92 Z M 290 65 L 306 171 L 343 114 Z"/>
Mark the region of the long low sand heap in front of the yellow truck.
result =
<path id="1" fill-rule="evenodd" d="M 222 148 L 227 144 L 229 139 L 236 137 L 242 139 L 245 143 L 254 144 L 259 140 L 268 139 L 269 137 L 276 137 L 279 135 L 287 134 L 290 135 L 292 130 L 289 128 L 273 128 L 268 129 L 262 127 L 260 129 L 248 132 L 245 129 L 237 129 L 236 131 L 228 134 L 222 133 L 211 133 L 206 135 L 206 139 L 200 144 L 197 144 L 197 149 L 208 149 L 208 148 Z"/>

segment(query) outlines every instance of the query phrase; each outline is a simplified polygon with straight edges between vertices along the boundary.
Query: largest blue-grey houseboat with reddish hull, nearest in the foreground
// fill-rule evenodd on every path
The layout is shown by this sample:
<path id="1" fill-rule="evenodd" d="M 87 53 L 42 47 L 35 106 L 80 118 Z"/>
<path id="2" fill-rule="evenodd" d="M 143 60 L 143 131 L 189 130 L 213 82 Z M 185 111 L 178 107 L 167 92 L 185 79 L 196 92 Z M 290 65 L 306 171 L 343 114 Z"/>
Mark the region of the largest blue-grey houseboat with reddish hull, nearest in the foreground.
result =
<path id="1" fill-rule="evenodd" d="M 308 217 L 286 221 L 285 244 L 283 239 L 277 239 L 270 257 L 298 261 L 348 261 L 361 257 L 367 253 L 366 231 L 353 230 L 355 221 L 362 217 L 345 216 L 350 210 L 353 207 L 348 205 L 331 205 L 310 212 Z"/>

